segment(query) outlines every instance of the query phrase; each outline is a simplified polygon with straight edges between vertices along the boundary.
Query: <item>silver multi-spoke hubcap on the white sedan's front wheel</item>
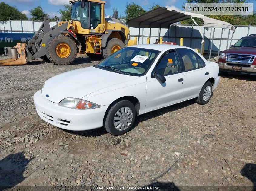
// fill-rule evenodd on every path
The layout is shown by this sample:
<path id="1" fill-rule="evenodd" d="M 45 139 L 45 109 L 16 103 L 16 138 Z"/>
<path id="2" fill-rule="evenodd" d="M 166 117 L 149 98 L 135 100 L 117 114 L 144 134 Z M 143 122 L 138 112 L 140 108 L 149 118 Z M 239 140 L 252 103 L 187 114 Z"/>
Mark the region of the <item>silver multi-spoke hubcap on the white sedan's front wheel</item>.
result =
<path id="1" fill-rule="evenodd" d="M 114 126 L 118 131 L 127 129 L 132 122 L 133 114 L 129 107 L 120 108 L 114 116 Z"/>

